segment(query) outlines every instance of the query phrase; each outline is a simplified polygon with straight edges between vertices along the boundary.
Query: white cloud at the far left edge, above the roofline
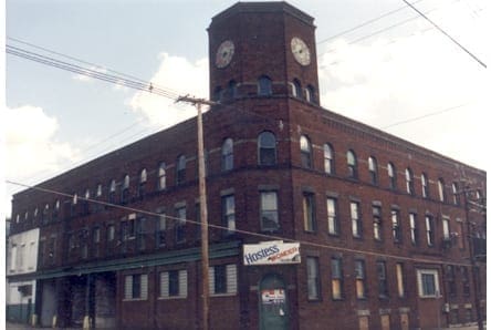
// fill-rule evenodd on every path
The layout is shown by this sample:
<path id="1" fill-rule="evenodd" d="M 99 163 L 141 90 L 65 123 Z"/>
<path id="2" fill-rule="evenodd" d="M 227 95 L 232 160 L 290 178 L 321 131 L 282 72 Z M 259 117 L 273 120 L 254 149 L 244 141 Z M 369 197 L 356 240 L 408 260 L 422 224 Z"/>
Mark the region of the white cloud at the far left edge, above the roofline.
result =
<path id="1" fill-rule="evenodd" d="M 43 109 L 7 107 L 3 117 L 7 178 L 32 183 L 33 177 L 48 177 L 59 171 L 63 162 L 79 158 L 69 143 L 56 141 L 58 121 Z"/>

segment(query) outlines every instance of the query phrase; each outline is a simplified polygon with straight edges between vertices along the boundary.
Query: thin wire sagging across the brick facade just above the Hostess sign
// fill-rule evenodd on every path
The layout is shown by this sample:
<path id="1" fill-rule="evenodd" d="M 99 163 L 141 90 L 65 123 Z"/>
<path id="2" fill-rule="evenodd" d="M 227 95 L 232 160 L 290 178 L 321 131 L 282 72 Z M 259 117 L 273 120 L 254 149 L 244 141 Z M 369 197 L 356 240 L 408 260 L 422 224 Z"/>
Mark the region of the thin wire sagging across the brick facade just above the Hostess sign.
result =
<path id="1" fill-rule="evenodd" d="M 27 184 L 14 182 L 14 181 L 7 179 L 6 183 L 10 184 L 10 185 L 17 185 L 17 186 L 21 186 L 21 187 L 24 187 L 24 188 L 33 189 L 33 190 L 39 190 L 39 192 L 42 192 L 42 193 L 48 193 L 48 194 L 53 194 L 53 195 L 58 195 L 58 196 L 69 197 L 71 199 L 73 199 L 75 197 L 75 195 L 73 195 L 73 194 L 62 193 L 62 192 L 58 192 L 58 190 L 54 190 L 54 189 L 43 188 L 43 187 L 40 187 L 40 186 L 31 186 L 31 185 L 27 185 Z M 168 216 L 168 215 L 164 215 L 164 214 L 159 214 L 159 213 L 155 213 L 155 212 L 149 212 L 149 210 L 145 210 L 145 209 L 142 209 L 142 208 L 129 207 L 129 206 L 122 206 L 122 205 L 117 205 L 117 204 L 114 204 L 114 203 L 107 203 L 107 202 L 92 199 L 92 198 L 86 198 L 86 197 L 82 197 L 82 196 L 76 196 L 76 198 L 80 199 L 80 200 L 85 200 L 87 203 L 100 204 L 100 205 L 103 205 L 103 206 L 108 206 L 108 207 L 112 207 L 112 208 L 118 208 L 118 209 L 127 210 L 127 212 L 130 212 L 130 213 L 138 213 L 138 214 L 143 214 L 143 215 L 147 215 L 147 216 L 155 216 L 155 217 L 165 216 L 166 219 L 171 219 L 171 220 L 174 220 L 176 223 L 182 221 L 182 218 L 173 217 L 173 216 Z M 187 218 L 184 219 L 184 220 L 186 221 L 186 224 L 191 224 L 191 225 L 196 225 L 196 226 L 202 226 L 202 224 L 200 221 L 190 220 L 190 219 L 187 219 Z M 208 223 L 207 227 L 211 228 L 211 229 L 230 231 L 230 229 L 228 227 L 219 226 L 219 225 L 213 225 L 213 224 L 209 224 L 209 223 Z M 327 244 L 320 244 L 320 243 L 301 240 L 301 239 L 299 240 L 299 239 L 293 239 L 293 238 L 289 238 L 289 237 L 282 237 L 282 236 L 278 236 L 278 235 L 270 235 L 270 234 L 249 231 L 249 230 L 244 230 L 244 229 L 237 229 L 236 228 L 236 229 L 233 229 L 233 231 L 238 233 L 238 234 L 242 234 L 242 235 L 258 237 L 258 238 L 265 238 L 265 239 L 272 239 L 272 240 L 283 240 L 283 241 L 291 241 L 291 243 L 300 243 L 301 245 L 304 245 L 304 246 L 311 246 L 311 247 L 324 248 L 324 249 L 332 249 L 332 250 L 337 250 L 337 251 L 343 251 L 343 252 L 351 252 L 351 254 L 363 254 L 363 255 L 373 256 L 373 257 L 385 257 L 385 258 L 391 258 L 391 259 L 396 259 L 396 260 L 406 260 L 406 261 L 412 261 L 412 262 L 455 265 L 455 266 L 470 266 L 470 264 L 462 264 L 462 262 L 455 262 L 455 261 L 446 262 L 446 261 L 442 261 L 442 260 L 396 256 L 396 255 L 390 255 L 390 254 L 383 254 L 383 252 L 367 251 L 367 250 L 361 250 L 361 249 L 354 249 L 354 248 L 346 248 L 346 247 L 339 247 L 339 246 L 327 245 Z"/>

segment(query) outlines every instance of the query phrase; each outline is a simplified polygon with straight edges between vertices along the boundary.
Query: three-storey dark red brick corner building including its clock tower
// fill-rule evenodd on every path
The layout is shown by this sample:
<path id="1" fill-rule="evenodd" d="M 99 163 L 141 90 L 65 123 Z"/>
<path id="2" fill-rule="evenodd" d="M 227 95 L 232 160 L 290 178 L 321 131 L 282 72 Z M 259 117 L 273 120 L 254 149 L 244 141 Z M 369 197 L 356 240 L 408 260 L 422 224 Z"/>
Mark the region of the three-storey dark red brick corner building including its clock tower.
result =
<path id="1" fill-rule="evenodd" d="M 239 2 L 208 29 L 210 328 L 476 321 L 485 172 L 322 109 L 314 30 L 285 2 Z M 196 125 L 14 195 L 12 235 L 39 228 L 39 262 L 9 280 L 36 281 L 42 326 L 201 327 Z M 279 239 L 300 260 L 244 265 L 244 245 Z"/>

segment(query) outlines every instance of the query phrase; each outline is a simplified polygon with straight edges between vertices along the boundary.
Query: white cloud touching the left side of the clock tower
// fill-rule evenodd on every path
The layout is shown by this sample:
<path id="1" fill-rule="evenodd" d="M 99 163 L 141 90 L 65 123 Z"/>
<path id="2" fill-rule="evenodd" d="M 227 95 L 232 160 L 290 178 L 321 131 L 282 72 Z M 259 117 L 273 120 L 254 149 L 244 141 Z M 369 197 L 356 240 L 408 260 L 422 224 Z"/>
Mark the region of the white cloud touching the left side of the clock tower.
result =
<path id="1" fill-rule="evenodd" d="M 208 95 L 208 59 L 195 63 L 185 58 L 173 56 L 168 53 L 159 55 L 161 62 L 157 72 L 150 79 L 155 87 L 174 92 L 176 95 L 189 94 L 196 97 Z M 175 104 L 174 100 L 157 93 L 138 92 L 129 101 L 130 106 L 140 113 L 152 126 L 169 127 L 196 115 L 196 110 L 189 105 Z"/>

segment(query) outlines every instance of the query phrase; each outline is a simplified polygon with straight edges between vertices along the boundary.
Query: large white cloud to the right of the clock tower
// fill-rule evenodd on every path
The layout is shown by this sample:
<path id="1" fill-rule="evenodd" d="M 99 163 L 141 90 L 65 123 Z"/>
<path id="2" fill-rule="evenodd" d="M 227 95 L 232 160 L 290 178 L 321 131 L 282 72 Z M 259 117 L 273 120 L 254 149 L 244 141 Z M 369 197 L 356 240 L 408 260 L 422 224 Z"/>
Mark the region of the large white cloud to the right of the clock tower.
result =
<path id="1" fill-rule="evenodd" d="M 488 130 L 485 70 L 441 33 L 364 44 L 336 40 L 327 48 L 334 51 L 318 59 L 323 106 L 378 128 L 441 112 L 386 131 L 463 163 L 488 165 L 477 144 Z"/>

